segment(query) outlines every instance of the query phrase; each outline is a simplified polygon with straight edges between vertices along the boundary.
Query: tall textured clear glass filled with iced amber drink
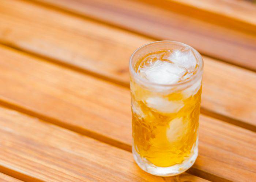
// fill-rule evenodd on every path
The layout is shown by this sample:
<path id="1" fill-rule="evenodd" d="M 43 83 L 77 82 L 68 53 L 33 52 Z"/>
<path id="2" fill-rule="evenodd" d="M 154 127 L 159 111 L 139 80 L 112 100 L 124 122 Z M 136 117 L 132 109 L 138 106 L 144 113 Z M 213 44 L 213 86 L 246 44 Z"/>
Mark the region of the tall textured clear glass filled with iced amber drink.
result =
<path id="1" fill-rule="evenodd" d="M 189 54 L 186 54 L 195 57 L 193 60 L 196 60 L 196 66 L 189 71 L 187 78 L 166 84 L 164 80 L 156 83 L 139 75 L 138 67 L 148 64 L 142 63 L 143 59 L 147 58 L 151 63 L 152 60 L 157 59 L 154 55 L 156 57 L 160 55 L 161 59 L 165 60 L 167 54 L 170 52 L 173 54 L 177 50 L 189 50 Z M 173 58 L 174 63 L 180 64 L 179 60 L 185 60 L 186 63 L 189 61 L 184 57 L 183 52 L 178 53 Z M 186 171 L 193 165 L 198 155 L 203 75 L 201 55 L 192 47 L 180 42 L 156 41 L 138 48 L 132 54 L 129 70 L 132 152 L 136 163 L 144 171 L 158 176 L 172 176 Z M 161 74 L 158 76 L 165 79 L 164 72 Z M 151 76 L 150 72 L 147 72 L 147 76 Z"/>

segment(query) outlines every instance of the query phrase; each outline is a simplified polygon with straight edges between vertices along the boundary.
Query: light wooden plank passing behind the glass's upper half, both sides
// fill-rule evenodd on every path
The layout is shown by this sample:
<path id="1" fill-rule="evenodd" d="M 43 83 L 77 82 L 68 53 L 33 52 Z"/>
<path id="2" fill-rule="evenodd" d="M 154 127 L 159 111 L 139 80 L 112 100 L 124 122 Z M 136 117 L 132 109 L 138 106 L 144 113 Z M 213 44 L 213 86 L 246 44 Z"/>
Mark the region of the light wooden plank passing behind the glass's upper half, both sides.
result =
<path id="1" fill-rule="evenodd" d="M 155 41 L 23 1 L 3 1 L 0 10 L 2 43 L 125 86 L 129 86 L 129 56 Z M 203 58 L 202 111 L 225 115 L 226 121 L 256 131 L 256 75 Z"/>

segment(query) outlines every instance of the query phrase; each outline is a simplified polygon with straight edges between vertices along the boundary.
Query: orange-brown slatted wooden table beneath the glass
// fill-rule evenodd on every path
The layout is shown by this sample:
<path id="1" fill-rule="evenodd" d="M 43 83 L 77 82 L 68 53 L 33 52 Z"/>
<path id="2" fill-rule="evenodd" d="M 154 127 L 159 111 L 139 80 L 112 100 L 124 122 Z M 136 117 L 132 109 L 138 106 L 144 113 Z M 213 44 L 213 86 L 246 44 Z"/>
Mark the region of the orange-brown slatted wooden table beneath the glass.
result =
<path id="1" fill-rule="evenodd" d="M 205 63 L 199 156 L 176 177 L 131 154 L 128 59 L 155 40 Z M 0 181 L 256 181 L 256 6 L 1 0 Z"/>

